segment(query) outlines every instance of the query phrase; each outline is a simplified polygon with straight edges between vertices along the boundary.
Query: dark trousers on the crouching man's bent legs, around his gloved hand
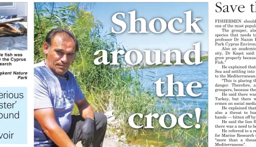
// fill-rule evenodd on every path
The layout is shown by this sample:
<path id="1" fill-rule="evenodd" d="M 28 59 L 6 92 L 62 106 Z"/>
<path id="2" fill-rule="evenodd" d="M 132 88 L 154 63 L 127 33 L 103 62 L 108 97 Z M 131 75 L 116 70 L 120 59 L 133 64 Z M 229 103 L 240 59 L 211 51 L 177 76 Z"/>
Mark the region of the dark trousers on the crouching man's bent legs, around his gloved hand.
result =
<path id="1" fill-rule="evenodd" d="M 71 127 L 68 132 L 69 138 L 74 142 L 74 144 L 81 141 L 82 131 L 81 126 L 84 123 L 84 119 L 81 115 L 72 115 Z M 107 116 L 102 113 L 94 113 L 94 138 L 90 146 L 85 147 L 102 147 L 105 133 L 107 130 Z M 84 146 L 83 146 L 84 147 Z"/>

